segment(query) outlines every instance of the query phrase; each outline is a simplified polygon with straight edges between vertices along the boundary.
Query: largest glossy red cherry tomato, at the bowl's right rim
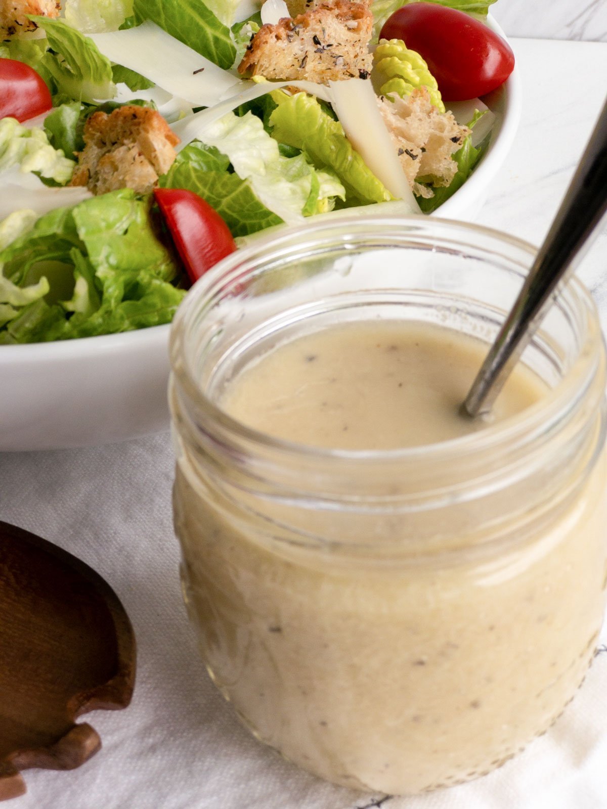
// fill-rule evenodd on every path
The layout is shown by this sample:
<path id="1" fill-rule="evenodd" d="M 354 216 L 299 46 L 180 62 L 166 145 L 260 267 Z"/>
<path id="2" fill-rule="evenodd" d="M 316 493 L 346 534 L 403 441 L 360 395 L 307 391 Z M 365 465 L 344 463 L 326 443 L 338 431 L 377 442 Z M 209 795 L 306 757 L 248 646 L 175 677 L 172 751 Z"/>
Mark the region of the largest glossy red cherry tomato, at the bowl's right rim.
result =
<path id="1" fill-rule="evenodd" d="M 490 28 L 431 2 L 414 2 L 388 17 L 380 39 L 403 40 L 427 61 L 445 101 L 464 101 L 495 90 L 514 69 L 514 53 Z"/>

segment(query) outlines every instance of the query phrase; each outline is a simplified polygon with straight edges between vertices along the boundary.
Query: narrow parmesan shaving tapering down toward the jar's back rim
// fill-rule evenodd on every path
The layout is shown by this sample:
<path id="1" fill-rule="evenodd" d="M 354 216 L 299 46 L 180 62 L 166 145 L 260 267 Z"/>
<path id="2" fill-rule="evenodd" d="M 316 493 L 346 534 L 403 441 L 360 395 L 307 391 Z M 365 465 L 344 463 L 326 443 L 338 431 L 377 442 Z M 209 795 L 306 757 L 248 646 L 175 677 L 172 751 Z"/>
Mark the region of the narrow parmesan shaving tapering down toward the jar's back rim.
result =
<path id="1" fill-rule="evenodd" d="M 354 149 L 393 197 L 407 203 L 410 214 L 421 214 L 377 107 L 371 82 L 368 79 L 349 78 L 329 82 L 329 86 L 333 96 L 331 104 Z"/>

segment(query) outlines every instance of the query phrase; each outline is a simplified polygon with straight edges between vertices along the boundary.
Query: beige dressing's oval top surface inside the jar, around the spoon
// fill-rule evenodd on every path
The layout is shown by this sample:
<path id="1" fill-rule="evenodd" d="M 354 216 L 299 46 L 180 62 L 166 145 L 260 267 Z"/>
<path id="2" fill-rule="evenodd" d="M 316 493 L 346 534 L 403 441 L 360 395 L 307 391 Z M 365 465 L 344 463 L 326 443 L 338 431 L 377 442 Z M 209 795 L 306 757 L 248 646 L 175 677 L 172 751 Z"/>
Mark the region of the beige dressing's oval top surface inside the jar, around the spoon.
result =
<path id="1" fill-rule="evenodd" d="M 486 344 L 431 324 L 342 324 L 265 354 L 221 404 L 256 430 L 312 447 L 418 447 L 486 426 L 460 413 L 485 354 Z M 491 421 L 543 395 L 545 385 L 520 364 Z"/>

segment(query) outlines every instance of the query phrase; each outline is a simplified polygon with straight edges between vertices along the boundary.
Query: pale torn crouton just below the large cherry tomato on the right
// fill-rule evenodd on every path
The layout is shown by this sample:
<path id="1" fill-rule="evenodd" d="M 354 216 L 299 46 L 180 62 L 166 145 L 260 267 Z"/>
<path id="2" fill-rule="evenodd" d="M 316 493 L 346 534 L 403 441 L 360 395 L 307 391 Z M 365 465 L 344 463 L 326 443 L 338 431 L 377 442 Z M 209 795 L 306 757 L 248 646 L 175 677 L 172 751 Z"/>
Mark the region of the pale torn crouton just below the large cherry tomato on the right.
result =
<path id="1" fill-rule="evenodd" d="M 433 196 L 420 180 L 435 187 L 449 185 L 457 172 L 452 155 L 468 137 L 468 127 L 459 125 L 451 112 L 439 112 L 426 87 L 403 98 L 382 96 L 378 104 L 414 192 Z"/>

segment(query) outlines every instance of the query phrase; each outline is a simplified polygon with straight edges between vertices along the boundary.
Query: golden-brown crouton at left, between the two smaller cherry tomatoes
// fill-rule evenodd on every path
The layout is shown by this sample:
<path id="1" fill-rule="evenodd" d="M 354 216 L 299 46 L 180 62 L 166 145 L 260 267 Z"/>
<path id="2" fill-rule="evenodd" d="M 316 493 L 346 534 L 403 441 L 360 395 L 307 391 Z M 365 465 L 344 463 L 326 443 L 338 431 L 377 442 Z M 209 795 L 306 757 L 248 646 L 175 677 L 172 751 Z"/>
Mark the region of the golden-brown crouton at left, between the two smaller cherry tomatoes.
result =
<path id="1" fill-rule="evenodd" d="M 154 109 L 129 105 L 95 112 L 84 126 L 84 149 L 70 185 L 94 194 L 133 188 L 149 193 L 176 158 L 179 138 Z"/>

